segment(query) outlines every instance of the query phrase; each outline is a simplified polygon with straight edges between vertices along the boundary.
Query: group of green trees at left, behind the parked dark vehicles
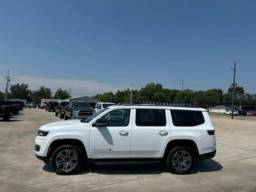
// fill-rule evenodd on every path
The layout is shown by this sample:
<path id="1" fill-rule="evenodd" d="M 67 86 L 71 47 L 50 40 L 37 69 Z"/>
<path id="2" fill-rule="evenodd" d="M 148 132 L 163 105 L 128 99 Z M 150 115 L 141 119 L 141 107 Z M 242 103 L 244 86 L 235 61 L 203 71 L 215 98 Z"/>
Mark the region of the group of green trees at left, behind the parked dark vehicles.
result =
<path id="1" fill-rule="evenodd" d="M 41 86 L 38 90 L 32 91 L 29 89 L 28 84 L 14 84 L 10 86 L 10 92 L 8 92 L 9 99 L 26 99 L 28 102 L 40 103 L 41 99 L 67 99 L 70 98 L 70 94 L 67 90 L 59 88 L 54 96 L 52 96 L 52 90 Z M 0 100 L 4 99 L 4 93 L 0 92 Z"/>

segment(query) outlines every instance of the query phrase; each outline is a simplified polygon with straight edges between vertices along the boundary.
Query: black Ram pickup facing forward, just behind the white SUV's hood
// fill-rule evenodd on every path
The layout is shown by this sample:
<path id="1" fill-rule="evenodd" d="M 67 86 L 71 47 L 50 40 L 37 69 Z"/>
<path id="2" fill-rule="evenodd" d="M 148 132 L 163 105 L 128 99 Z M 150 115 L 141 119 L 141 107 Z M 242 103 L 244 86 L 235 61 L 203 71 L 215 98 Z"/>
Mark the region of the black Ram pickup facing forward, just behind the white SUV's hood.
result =
<path id="1" fill-rule="evenodd" d="M 70 102 L 64 109 L 64 120 L 86 119 L 95 113 L 88 102 Z"/>

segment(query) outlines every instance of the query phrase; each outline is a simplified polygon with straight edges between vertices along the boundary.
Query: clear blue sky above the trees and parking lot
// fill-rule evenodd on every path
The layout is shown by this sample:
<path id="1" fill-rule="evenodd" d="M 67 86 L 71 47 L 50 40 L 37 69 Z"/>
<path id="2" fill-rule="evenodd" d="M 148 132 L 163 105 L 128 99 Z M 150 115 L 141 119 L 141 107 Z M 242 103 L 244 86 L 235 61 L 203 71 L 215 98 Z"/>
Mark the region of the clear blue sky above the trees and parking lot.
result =
<path id="1" fill-rule="evenodd" d="M 255 93 L 255 1 L 0 1 L 0 77 L 93 95 L 147 83 Z M 0 79 L 0 82 L 2 79 Z M 3 89 L 0 85 L 0 90 Z"/>

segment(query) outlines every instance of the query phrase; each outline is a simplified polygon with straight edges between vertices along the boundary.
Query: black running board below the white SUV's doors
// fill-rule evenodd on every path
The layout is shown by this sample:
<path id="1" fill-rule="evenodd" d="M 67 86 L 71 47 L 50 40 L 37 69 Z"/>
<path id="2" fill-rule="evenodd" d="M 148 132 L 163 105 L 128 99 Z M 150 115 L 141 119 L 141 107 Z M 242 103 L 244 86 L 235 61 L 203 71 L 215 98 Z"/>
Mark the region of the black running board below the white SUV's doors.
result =
<path id="1" fill-rule="evenodd" d="M 159 161 L 94 161 L 96 165 L 156 165 Z"/>

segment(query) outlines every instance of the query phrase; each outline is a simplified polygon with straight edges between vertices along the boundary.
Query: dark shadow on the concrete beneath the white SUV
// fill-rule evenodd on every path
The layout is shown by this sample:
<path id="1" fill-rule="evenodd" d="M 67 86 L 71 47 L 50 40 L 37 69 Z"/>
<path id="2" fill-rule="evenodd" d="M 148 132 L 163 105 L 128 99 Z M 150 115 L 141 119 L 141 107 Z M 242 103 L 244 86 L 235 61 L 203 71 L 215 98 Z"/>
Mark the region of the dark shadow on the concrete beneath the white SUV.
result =
<path id="1" fill-rule="evenodd" d="M 45 164 L 43 170 L 47 172 L 56 172 L 50 164 Z M 196 163 L 192 172 L 188 174 L 196 174 L 199 172 L 215 172 L 222 170 L 222 165 L 210 159 Z M 122 175 L 122 174 L 161 174 L 170 172 L 166 164 L 158 165 L 106 165 L 99 166 L 94 164 L 85 164 L 79 172 L 74 175 L 82 175 L 88 173 L 98 173 L 106 175 Z"/>

